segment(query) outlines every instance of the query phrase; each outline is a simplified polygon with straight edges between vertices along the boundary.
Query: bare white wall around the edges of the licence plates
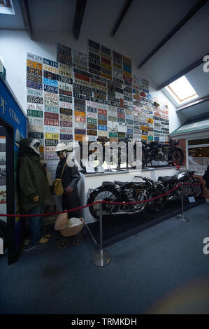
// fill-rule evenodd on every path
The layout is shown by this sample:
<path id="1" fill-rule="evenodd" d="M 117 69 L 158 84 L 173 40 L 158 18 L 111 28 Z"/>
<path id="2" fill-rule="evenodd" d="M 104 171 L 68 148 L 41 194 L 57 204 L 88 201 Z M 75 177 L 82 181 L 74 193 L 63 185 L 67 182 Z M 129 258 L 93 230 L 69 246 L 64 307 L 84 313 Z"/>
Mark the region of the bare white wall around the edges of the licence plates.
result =
<path id="1" fill-rule="evenodd" d="M 97 41 L 111 50 L 120 52 L 122 55 L 129 56 L 129 53 L 118 43 L 115 38 L 106 34 L 80 34 L 79 40 L 75 41 L 71 33 L 60 32 L 36 32 L 34 41 L 31 41 L 25 31 L 1 30 L 0 31 L 0 55 L 3 65 L 6 68 L 6 79 L 15 93 L 17 100 L 27 112 L 26 95 L 26 54 L 31 52 L 53 61 L 57 60 L 57 43 L 68 45 L 72 49 L 87 53 L 88 38 Z M 149 76 L 143 71 L 138 70 L 136 63 L 132 59 L 132 74 L 140 78 L 145 78 L 150 82 L 150 94 L 159 98 L 161 102 L 168 104 L 170 132 L 173 132 L 182 123 L 184 118 L 180 118 L 175 112 L 175 106 L 170 102 L 166 95 L 156 90 L 156 86 Z"/>

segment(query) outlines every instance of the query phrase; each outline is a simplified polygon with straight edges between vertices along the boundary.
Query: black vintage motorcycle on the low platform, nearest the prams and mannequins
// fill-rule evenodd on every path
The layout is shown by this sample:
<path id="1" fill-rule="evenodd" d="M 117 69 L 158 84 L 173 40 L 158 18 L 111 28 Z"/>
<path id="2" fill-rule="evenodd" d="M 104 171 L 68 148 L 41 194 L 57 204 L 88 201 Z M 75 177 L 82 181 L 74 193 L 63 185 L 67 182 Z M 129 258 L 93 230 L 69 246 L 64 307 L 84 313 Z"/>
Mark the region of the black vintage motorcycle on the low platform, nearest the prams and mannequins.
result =
<path id="1" fill-rule="evenodd" d="M 166 192 L 163 184 L 142 176 L 135 176 L 142 181 L 120 182 L 103 181 L 102 186 L 89 193 L 87 204 L 96 201 L 108 202 L 138 202 L 138 204 L 102 204 L 103 215 L 138 214 L 147 207 L 147 210 L 159 212 L 164 207 L 164 197 L 147 201 Z M 99 219 L 99 204 L 89 207 L 92 216 Z"/>

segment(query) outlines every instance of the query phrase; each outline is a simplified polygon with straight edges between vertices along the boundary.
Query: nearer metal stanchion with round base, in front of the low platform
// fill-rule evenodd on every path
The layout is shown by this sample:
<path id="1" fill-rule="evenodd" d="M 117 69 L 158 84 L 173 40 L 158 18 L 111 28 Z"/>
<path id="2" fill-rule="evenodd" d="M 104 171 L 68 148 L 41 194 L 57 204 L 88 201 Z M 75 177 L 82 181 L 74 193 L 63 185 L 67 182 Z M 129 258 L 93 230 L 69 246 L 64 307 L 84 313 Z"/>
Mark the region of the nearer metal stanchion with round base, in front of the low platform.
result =
<path id="1" fill-rule="evenodd" d="M 102 232 L 102 203 L 99 204 L 99 250 L 96 251 L 93 262 L 94 265 L 104 267 L 110 263 L 110 254 L 103 249 L 103 232 Z"/>

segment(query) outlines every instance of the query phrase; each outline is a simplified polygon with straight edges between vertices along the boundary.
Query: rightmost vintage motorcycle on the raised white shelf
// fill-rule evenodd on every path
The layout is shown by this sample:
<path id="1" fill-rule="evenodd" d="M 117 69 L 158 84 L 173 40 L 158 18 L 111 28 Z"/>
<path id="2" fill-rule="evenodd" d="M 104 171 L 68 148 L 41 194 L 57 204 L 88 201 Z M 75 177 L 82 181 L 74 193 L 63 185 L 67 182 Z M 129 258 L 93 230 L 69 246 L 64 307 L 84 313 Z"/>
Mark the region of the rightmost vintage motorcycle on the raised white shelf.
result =
<path id="1" fill-rule="evenodd" d="M 142 164 L 143 167 L 148 163 L 152 166 L 152 161 L 166 161 L 168 165 L 182 165 L 184 153 L 178 141 L 169 140 L 168 143 L 151 141 L 147 144 L 142 141 Z"/>

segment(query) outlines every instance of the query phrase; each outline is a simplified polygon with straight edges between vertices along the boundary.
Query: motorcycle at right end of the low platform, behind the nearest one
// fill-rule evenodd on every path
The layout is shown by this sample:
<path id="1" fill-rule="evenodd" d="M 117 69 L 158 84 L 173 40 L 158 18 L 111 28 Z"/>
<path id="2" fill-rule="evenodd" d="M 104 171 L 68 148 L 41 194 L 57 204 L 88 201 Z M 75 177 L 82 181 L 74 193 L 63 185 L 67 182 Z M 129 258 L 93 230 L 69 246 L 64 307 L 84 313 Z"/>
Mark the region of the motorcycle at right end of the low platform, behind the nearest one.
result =
<path id="1" fill-rule="evenodd" d="M 164 186 L 164 191 L 166 192 L 177 187 L 180 183 L 184 183 L 183 189 L 177 188 L 173 193 L 164 197 L 164 204 L 168 201 L 180 200 L 182 197 L 182 190 L 185 200 L 187 200 L 187 197 L 199 197 L 202 192 L 201 181 L 198 178 L 194 178 L 194 174 L 195 172 L 191 170 L 180 170 L 180 172 L 173 176 L 159 176 L 158 182 Z"/>

